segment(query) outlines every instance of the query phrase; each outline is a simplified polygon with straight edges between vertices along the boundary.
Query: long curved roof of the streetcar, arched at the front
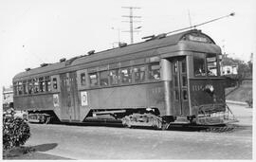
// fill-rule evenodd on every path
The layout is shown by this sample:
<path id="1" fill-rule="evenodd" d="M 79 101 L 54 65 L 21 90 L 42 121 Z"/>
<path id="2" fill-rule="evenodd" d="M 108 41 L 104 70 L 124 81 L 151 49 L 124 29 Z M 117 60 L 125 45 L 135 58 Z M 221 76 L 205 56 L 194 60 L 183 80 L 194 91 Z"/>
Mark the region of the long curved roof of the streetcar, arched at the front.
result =
<path id="1" fill-rule="evenodd" d="M 36 68 L 29 69 L 25 72 L 18 73 L 17 75 L 14 76 L 13 81 L 22 79 L 23 77 L 37 75 L 39 73 L 50 72 L 50 71 L 54 71 L 62 68 L 67 68 L 67 67 L 75 66 L 82 63 L 91 63 L 91 62 L 96 62 L 96 61 L 104 60 L 108 58 L 116 58 L 119 56 L 129 55 L 129 54 L 133 54 L 141 51 L 156 49 L 163 46 L 176 45 L 178 44 L 179 41 L 181 41 L 184 35 L 191 34 L 191 33 L 200 33 L 200 35 L 204 35 L 206 38 L 208 38 L 211 44 L 215 44 L 208 35 L 202 33 L 200 30 L 192 29 L 192 30 L 176 33 L 174 35 L 170 35 L 166 37 L 164 36 L 161 38 L 158 38 L 156 36 L 152 40 L 147 40 L 147 41 L 140 42 L 133 45 L 126 45 L 123 47 L 107 49 L 101 52 L 94 53 L 92 55 L 82 55 L 82 56 L 74 57 L 61 63 L 49 63 L 43 67 L 36 67 Z"/>

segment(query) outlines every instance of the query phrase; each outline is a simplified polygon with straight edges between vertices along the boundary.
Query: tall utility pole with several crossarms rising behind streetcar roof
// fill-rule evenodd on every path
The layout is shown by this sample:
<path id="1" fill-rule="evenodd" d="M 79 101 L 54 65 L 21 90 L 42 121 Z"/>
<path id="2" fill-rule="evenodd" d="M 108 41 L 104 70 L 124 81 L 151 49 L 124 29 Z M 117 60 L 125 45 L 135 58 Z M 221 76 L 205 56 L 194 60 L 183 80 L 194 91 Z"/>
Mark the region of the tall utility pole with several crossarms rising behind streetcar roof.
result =
<path id="1" fill-rule="evenodd" d="M 130 18 L 130 21 L 122 21 L 122 22 L 128 22 L 130 23 L 130 30 L 129 31 L 123 31 L 123 32 L 130 32 L 131 36 L 131 44 L 134 43 L 134 32 L 139 32 L 139 30 L 134 30 L 134 23 L 138 23 L 140 21 L 134 21 L 134 18 L 141 18 L 141 16 L 134 16 L 133 15 L 133 9 L 140 9 L 137 7 L 121 7 L 122 9 L 130 9 L 130 15 L 122 15 L 122 17 L 128 17 Z"/>

